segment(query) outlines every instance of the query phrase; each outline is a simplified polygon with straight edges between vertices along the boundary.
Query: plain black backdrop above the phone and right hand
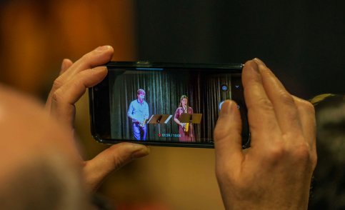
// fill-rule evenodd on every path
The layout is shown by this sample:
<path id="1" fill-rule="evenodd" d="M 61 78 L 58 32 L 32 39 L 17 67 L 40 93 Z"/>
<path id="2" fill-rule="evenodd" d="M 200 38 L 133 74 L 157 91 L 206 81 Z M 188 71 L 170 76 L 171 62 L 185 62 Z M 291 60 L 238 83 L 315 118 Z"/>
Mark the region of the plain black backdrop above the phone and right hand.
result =
<path id="1" fill-rule="evenodd" d="M 140 60 L 259 57 L 291 94 L 344 93 L 345 1 L 136 1 Z"/>

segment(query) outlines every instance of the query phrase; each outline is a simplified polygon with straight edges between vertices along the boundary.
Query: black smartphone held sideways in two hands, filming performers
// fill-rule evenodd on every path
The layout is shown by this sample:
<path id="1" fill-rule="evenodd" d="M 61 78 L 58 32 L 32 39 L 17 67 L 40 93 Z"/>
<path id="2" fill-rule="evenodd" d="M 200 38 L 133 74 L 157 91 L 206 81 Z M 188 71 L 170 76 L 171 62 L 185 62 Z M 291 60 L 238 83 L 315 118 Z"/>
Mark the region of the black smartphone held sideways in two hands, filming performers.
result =
<path id="1" fill-rule="evenodd" d="M 110 61 L 108 75 L 89 89 L 96 141 L 214 148 L 221 104 L 237 102 L 242 146 L 250 135 L 241 84 L 243 64 Z"/>

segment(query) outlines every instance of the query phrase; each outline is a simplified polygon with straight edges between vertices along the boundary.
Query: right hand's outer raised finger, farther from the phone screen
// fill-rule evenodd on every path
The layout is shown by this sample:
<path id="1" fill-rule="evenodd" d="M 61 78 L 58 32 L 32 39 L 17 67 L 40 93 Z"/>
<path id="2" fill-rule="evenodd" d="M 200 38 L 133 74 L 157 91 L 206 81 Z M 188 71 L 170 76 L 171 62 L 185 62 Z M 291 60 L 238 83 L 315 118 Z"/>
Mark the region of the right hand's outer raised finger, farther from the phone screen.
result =
<path id="1" fill-rule="evenodd" d="M 274 112 L 283 134 L 301 134 L 301 121 L 294 98 L 286 91 L 281 81 L 259 59 L 254 59 L 259 67 L 262 83 L 266 94 L 274 106 Z"/>

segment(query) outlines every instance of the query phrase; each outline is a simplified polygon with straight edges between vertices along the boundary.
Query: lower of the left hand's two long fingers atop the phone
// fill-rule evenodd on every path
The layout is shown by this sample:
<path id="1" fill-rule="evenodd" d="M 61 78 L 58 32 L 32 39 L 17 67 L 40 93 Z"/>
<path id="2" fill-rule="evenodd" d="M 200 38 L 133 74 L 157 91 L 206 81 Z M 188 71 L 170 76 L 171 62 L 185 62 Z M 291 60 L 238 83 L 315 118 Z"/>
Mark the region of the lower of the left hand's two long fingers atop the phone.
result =
<path id="1" fill-rule="evenodd" d="M 51 112 L 64 124 L 73 126 L 75 107 L 86 88 L 101 82 L 108 70 L 105 66 L 79 72 L 73 79 L 54 91 L 51 99 Z"/>

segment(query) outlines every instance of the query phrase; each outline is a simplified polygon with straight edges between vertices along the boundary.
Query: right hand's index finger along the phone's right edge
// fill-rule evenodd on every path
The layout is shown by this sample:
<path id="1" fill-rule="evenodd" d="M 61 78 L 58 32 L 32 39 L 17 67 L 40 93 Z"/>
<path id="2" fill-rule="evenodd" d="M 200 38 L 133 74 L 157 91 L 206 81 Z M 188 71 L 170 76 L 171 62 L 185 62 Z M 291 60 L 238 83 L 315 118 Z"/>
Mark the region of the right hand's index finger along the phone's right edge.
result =
<path id="1" fill-rule="evenodd" d="M 262 84 L 259 66 L 255 61 L 247 61 L 242 71 L 244 99 L 248 109 L 249 129 L 251 131 L 251 147 L 266 146 L 280 135 L 276 121 L 274 106 L 266 94 Z M 276 135 L 276 136 L 273 136 Z"/>

